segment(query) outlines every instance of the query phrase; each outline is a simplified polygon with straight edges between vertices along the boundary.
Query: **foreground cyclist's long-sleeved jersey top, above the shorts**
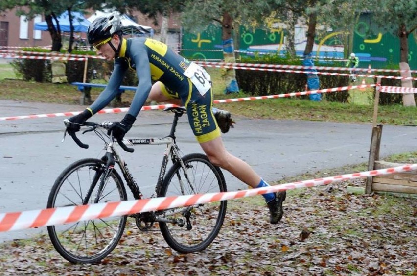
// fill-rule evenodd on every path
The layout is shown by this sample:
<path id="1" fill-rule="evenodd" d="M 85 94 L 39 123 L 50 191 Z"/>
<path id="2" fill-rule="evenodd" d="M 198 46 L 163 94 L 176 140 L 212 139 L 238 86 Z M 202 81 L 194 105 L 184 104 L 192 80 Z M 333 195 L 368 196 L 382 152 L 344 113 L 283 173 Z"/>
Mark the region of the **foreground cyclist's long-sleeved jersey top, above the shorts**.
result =
<path id="1" fill-rule="evenodd" d="M 104 108 L 117 94 L 118 87 L 131 68 L 136 70 L 139 83 L 129 114 L 137 116 L 152 87 L 152 80 L 161 81 L 173 98 L 187 97 L 188 79 L 184 71 L 190 62 L 171 50 L 166 44 L 150 38 L 123 39 L 119 57 L 106 89 L 90 107 L 96 113 Z M 182 92 L 183 95 L 180 95 Z"/>

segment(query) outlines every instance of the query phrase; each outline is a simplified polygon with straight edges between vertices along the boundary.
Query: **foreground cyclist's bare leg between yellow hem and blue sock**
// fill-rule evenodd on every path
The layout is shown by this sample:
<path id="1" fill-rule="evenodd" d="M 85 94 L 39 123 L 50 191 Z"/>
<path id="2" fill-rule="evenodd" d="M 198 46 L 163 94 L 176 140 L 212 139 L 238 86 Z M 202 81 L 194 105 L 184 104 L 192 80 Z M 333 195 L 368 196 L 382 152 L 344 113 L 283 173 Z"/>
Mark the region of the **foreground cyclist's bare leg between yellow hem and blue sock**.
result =
<path id="1" fill-rule="evenodd" d="M 253 188 L 258 186 L 261 177 L 255 173 L 248 163 L 230 154 L 224 147 L 221 137 L 200 143 L 200 146 L 209 157 L 211 163 L 229 171 L 240 181 Z"/>

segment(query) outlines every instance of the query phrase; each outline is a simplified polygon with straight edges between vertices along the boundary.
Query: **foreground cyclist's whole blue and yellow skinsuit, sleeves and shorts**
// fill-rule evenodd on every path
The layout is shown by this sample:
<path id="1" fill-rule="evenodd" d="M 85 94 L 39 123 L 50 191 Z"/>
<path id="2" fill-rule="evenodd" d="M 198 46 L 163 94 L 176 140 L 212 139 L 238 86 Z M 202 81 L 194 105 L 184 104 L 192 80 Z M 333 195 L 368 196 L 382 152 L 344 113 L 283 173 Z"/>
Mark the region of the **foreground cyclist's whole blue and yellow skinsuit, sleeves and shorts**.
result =
<path id="1" fill-rule="evenodd" d="M 163 93 L 169 94 L 172 99 L 181 99 L 184 103 L 191 128 L 199 142 L 220 136 L 211 110 L 212 91 L 209 79 L 209 91 L 199 92 L 192 80 L 184 75 L 190 62 L 162 42 L 142 37 L 123 39 L 121 43 L 109 83 L 90 106 L 93 114 L 116 97 L 126 71 L 131 68 L 136 70 L 139 82 L 128 114 L 138 116 L 152 88 L 152 80 L 160 81 L 163 84 Z"/>

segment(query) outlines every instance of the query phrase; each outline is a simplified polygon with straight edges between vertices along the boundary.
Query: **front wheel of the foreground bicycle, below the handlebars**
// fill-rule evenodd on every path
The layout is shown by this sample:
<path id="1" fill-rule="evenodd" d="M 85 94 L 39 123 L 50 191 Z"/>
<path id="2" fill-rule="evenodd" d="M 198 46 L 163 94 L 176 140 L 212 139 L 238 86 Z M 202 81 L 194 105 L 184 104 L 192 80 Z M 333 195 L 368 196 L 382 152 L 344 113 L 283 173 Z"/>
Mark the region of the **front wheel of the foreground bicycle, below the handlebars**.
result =
<path id="1" fill-rule="evenodd" d="M 93 203 L 104 168 L 104 161 L 93 158 L 72 163 L 55 180 L 49 193 L 47 208 L 82 205 L 93 177 L 97 176 L 99 180 L 90 200 L 85 202 Z M 126 189 L 119 174 L 113 169 L 98 203 L 124 200 L 127 200 Z M 63 226 L 47 226 L 47 230 L 54 248 L 66 260 L 71 263 L 96 263 L 116 247 L 123 234 L 126 219 L 127 216 L 92 219 Z"/>

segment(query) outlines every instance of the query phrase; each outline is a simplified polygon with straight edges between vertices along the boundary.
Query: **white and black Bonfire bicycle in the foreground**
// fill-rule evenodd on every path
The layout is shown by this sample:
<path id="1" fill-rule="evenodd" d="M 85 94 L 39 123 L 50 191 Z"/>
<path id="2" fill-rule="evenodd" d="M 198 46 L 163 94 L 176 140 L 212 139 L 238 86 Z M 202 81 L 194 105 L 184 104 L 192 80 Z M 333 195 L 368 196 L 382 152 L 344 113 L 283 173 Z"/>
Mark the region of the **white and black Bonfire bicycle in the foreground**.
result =
<path id="1" fill-rule="evenodd" d="M 166 145 L 162 166 L 151 197 L 202 194 L 227 191 L 220 168 L 210 163 L 200 153 L 180 155 L 175 130 L 178 118 L 186 111 L 183 107 L 171 107 L 165 111 L 174 112 L 170 134 L 163 138 L 137 138 L 116 140 L 107 130 L 112 122 L 86 122 L 83 132 L 93 131 L 105 144 L 106 152 L 101 159 L 86 158 L 68 166 L 56 179 L 49 194 L 47 208 L 86 205 L 127 200 L 126 188 L 115 164 L 118 164 L 127 186 L 136 200 L 143 199 L 139 186 L 129 172 L 116 145 L 128 152 L 134 152 L 135 145 Z M 64 120 L 68 126 L 70 121 Z M 67 130 L 64 134 L 67 133 Z M 88 148 L 75 133 L 72 139 L 82 148 Z M 63 140 L 64 140 L 63 139 Z M 166 172 L 169 158 L 172 166 Z M 216 238 L 226 214 L 227 201 L 198 204 L 168 210 L 137 213 L 133 217 L 136 226 L 149 231 L 154 223 L 167 244 L 180 253 L 202 251 Z M 96 263 L 116 247 L 124 231 L 127 215 L 106 219 L 77 222 L 62 226 L 48 226 L 47 231 L 54 248 L 71 263 Z"/>

